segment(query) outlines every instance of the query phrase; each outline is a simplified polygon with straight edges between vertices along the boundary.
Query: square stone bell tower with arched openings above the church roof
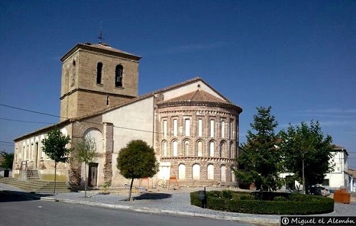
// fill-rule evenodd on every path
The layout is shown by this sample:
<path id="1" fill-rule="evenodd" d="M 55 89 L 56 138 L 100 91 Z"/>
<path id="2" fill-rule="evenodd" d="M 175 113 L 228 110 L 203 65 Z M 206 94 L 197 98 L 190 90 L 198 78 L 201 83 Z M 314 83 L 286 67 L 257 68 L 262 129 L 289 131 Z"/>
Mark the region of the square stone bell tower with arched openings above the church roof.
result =
<path id="1" fill-rule="evenodd" d="M 61 121 L 137 97 L 140 58 L 103 43 L 86 42 L 73 47 L 60 59 Z"/>

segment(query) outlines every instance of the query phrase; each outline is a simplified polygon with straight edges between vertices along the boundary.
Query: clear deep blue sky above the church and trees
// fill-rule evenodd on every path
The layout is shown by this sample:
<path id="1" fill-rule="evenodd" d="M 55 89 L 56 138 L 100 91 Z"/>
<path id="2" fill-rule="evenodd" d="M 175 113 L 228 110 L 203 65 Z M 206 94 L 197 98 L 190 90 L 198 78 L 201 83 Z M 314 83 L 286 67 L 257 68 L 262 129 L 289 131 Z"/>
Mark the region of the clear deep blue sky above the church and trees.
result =
<path id="1" fill-rule="evenodd" d="M 356 168 L 356 1 L 0 2 L 0 103 L 60 114 L 60 58 L 79 42 L 141 55 L 140 95 L 200 76 L 279 129 L 319 121 Z M 59 118 L 0 106 L 0 150 Z M 25 123 L 16 121 L 34 121 Z M 40 122 L 40 123 L 39 123 Z M 9 142 L 9 143 L 8 143 Z"/>

